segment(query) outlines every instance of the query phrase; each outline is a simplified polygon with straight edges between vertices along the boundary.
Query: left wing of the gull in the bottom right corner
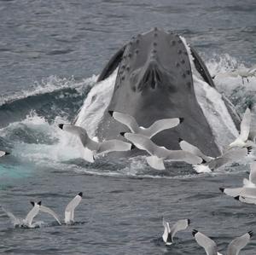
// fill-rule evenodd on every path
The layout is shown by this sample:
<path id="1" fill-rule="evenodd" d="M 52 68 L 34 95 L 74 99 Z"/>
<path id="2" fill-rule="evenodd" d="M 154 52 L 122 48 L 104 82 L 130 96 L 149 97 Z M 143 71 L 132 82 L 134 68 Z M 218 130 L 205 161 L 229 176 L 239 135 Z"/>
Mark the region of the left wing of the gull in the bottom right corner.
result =
<path id="1" fill-rule="evenodd" d="M 195 236 L 195 241 L 205 249 L 207 255 L 218 255 L 217 246 L 215 241 L 207 237 L 207 235 L 201 234 L 197 230 L 193 230 L 192 234 Z"/>

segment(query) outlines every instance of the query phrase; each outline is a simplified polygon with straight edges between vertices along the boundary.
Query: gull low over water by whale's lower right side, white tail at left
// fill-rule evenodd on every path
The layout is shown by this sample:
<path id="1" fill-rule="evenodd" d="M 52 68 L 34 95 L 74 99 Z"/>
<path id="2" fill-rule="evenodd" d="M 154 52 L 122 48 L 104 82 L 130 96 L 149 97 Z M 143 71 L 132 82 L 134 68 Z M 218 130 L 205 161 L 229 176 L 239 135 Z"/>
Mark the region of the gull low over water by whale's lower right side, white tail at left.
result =
<path id="1" fill-rule="evenodd" d="M 247 154 L 251 151 L 251 147 L 248 148 L 232 148 L 226 151 L 224 154 L 212 158 L 207 156 L 201 152 L 201 150 L 189 142 L 184 141 L 179 138 L 179 146 L 183 151 L 189 152 L 190 154 L 194 154 L 195 156 L 201 157 L 203 159 L 200 165 L 193 165 L 193 168 L 196 172 L 212 172 L 213 170 L 219 168 L 222 165 L 230 163 L 234 160 L 240 160 L 247 156 Z"/>

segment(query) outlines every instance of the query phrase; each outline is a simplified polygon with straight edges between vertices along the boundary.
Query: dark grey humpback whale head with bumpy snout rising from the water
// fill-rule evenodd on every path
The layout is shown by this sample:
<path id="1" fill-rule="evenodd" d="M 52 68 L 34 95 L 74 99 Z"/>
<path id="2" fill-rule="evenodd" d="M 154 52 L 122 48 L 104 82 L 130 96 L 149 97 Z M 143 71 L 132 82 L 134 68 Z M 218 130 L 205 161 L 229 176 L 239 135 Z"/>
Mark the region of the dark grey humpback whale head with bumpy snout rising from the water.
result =
<path id="1" fill-rule="evenodd" d="M 182 118 L 181 124 L 152 137 L 158 146 L 172 150 L 180 149 L 182 138 L 205 154 L 217 157 L 226 142 L 238 136 L 241 120 L 235 107 L 218 93 L 196 50 L 176 33 L 155 27 L 131 38 L 108 61 L 97 82 L 116 70 L 112 98 L 96 127 L 100 141 L 126 141 L 120 133 L 130 131 L 109 112 L 129 114 L 145 128 L 159 119 Z M 73 125 L 79 125 L 78 119 L 73 120 Z M 145 152 L 134 149 L 121 153 L 136 154 Z"/>

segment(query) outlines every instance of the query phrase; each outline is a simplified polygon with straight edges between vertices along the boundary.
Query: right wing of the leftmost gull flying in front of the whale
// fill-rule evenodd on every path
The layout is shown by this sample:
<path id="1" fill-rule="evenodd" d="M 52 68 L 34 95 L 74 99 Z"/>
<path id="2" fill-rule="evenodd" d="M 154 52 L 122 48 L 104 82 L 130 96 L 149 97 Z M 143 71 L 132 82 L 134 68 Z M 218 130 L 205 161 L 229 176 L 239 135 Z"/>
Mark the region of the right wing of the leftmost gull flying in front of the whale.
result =
<path id="1" fill-rule="evenodd" d="M 96 150 L 97 154 L 108 154 L 110 152 L 125 152 L 131 150 L 131 143 L 120 140 L 109 140 L 100 142 Z"/>

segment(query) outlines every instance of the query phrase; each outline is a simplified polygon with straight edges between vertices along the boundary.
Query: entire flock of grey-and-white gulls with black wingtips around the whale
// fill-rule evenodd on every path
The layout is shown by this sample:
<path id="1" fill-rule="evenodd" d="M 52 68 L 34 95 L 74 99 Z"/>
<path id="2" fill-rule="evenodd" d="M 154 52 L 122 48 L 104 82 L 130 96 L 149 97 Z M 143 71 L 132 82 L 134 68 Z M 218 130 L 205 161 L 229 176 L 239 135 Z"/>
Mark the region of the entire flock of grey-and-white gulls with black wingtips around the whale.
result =
<path id="1" fill-rule="evenodd" d="M 251 72 L 249 74 L 247 73 L 248 75 L 246 76 L 244 73 L 237 73 L 237 75 L 241 75 L 242 78 L 247 78 L 247 76 L 250 76 L 251 74 L 251 76 L 253 76 L 256 72 L 256 69 L 252 69 Z M 120 133 L 120 135 L 124 136 L 128 142 L 123 142 L 116 139 L 98 142 L 95 137 L 90 138 L 90 136 L 87 134 L 87 131 L 82 127 L 68 124 L 58 125 L 61 130 L 65 130 L 75 136 L 79 136 L 79 139 L 84 146 L 84 159 L 91 163 L 96 160 L 97 156 L 102 154 L 108 154 L 110 152 L 116 151 L 129 151 L 133 148 L 138 148 L 145 150 L 149 154 L 149 156 L 146 157 L 146 161 L 148 165 L 157 170 L 165 169 L 164 160 L 167 159 L 171 161 L 184 161 L 188 164 L 191 164 L 193 165 L 195 171 L 198 173 L 212 172 L 222 165 L 247 157 L 247 155 L 251 153 L 252 149 L 256 147 L 255 137 L 249 137 L 251 125 L 250 107 L 247 107 L 247 110 L 245 111 L 241 120 L 239 136 L 236 137 L 234 142 L 231 142 L 230 145 L 227 146 L 223 154 L 216 158 L 212 158 L 206 154 L 203 154 L 199 148 L 195 147 L 189 142 L 184 141 L 182 138 L 179 138 L 178 141 L 181 148 L 180 150 L 169 150 L 165 147 L 159 147 L 154 142 L 152 142 L 151 138 L 160 131 L 181 125 L 183 123 L 183 118 L 160 119 L 155 121 L 154 124 L 148 128 L 144 128 L 139 126 L 136 119 L 134 119 L 129 114 L 113 111 L 109 111 L 108 113 L 113 117 L 113 119 L 116 119 L 119 121 L 119 123 L 126 125 L 131 130 L 131 132 Z M 249 140 L 249 138 L 251 140 Z M 0 151 L 0 157 L 8 154 L 8 152 Z M 224 194 L 234 197 L 236 200 L 240 200 L 243 203 L 256 205 L 256 162 L 253 162 L 251 165 L 249 179 L 243 180 L 242 187 L 219 189 Z M 82 200 L 82 196 L 83 194 L 80 192 L 73 198 L 73 200 L 67 204 L 64 213 L 65 224 L 74 223 L 74 210 L 77 206 L 79 206 L 79 203 Z M 1 206 L 1 208 L 3 212 L 7 214 L 11 220 L 11 223 L 13 223 L 15 227 L 40 227 L 43 222 L 33 222 L 34 217 L 36 217 L 39 212 L 48 213 L 55 218 L 55 221 L 58 224 L 62 224 L 61 218 L 49 207 L 43 206 L 41 201 L 31 203 L 32 210 L 28 212 L 25 219 L 15 217 L 13 213 L 8 212 L 3 208 L 3 206 Z M 164 233 L 162 235 L 162 240 L 166 245 L 172 245 L 176 233 L 178 231 L 187 229 L 189 224 L 189 219 L 182 219 L 173 224 L 171 228 L 170 224 L 166 222 L 165 218 L 163 218 Z M 195 237 L 195 241 L 198 243 L 198 245 L 205 249 L 207 255 L 221 255 L 221 253 L 218 252 L 216 243 L 207 237 L 207 235 L 202 234 L 196 229 L 193 229 L 192 235 Z M 241 235 L 240 237 L 237 237 L 235 240 L 231 241 L 227 249 L 227 254 L 238 255 L 241 249 L 250 241 L 252 236 L 253 232 L 249 231 L 245 235 Z"/>

